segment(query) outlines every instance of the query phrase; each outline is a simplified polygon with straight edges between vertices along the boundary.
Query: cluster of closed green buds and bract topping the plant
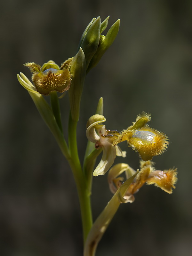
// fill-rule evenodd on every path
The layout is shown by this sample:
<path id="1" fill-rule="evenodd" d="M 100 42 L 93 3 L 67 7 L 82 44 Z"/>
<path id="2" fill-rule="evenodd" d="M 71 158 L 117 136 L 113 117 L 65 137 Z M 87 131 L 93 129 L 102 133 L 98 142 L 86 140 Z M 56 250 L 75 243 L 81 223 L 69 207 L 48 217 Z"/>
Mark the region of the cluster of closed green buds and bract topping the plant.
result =
<path id="1" fill-rule="evenodd" d="M 98 64 L 104 52 L 117 36 L 120 20 L 117 20 L 109 28 L 106 36 L 101 35 L 107 28 L 108 19 L 109 16 L 102 23 L 100 17 L 92 19 L 81 36 L 78 52 L 71 62 L 70 73 L 72 74 L 72 81 L 69 89 L 69 98 L 71 116 L 74 121 L 79 119 L 81 94 L 86 74 Z"/>

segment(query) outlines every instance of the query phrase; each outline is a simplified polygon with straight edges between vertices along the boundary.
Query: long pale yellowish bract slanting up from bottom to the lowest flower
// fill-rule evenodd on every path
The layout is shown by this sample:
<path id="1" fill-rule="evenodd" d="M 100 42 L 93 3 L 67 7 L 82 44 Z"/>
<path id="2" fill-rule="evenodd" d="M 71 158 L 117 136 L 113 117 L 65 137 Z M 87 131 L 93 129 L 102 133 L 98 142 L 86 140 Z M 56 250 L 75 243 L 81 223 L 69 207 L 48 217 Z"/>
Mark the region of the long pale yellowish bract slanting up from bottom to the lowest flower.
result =
<path id="1" fill-rule="evenodd" d="M 97 245 L 111 222 L 113 216 L 119 208 L 119 205 L 123 202 L 123 197 L 133 179 L 137 175 L 136 172 L 132 177 L 126 180 L 123 185 L 116 191 L 114 196 L 108 202 L 105 209 L 101 212 L 99 217 L 95 220 L 85 242 L 84 256 L 94 256 Z"/>

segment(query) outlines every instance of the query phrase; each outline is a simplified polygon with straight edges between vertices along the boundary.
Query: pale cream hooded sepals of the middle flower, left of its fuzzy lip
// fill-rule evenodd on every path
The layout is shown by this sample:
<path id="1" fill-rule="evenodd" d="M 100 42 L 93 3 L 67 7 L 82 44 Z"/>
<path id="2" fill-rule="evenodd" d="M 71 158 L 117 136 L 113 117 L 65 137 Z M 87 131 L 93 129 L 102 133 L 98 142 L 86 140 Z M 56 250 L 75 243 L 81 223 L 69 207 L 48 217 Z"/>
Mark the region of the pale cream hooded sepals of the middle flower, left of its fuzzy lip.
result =
<path id="1" fill-rule="evenodd" d="M 89 118 L 87 122 L 86 135 L 88 140 L 95 143 L 95 148 L 103 149 L 103 155 L 100 163 L 93 172 L 94 176 L 104 175 L 114 163 L 116 156 L 126 156 L 126 152 L 122 151 L 118 146 L 112 146 L 114 139 L 119 135 L 116 130 L 107 130 L 104 116 L 96 114 Z"/>

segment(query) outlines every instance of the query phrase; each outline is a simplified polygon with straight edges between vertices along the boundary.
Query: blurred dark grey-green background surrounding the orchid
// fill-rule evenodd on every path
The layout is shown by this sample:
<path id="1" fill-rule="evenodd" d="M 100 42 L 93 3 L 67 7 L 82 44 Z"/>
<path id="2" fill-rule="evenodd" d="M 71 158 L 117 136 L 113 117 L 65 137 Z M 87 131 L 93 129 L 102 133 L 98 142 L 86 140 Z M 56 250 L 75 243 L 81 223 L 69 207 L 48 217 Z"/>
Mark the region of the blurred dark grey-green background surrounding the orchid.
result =
<path id="1" fill-rule="evenodd" d="M 119 18 L 120 30 L 86 78 L 78 124 L 81 159 L 85 124 L 102 96 L 108 129 L 125 129 L 141 111 L 152 114 L 150 125 L 170 138 L 168 150 L 153 159 L 156 168 L 177 167 L 179 180 L 172 195 L 145 185 L 134 203 L 120 205 L 96 255 L 191 255 L 192 1 L 7 0 L 0 12 L 0 254 L 82 255 L 73 176 L 16 74 L 30 77 L 25 62 L 60 65 L 76 54 L 90 20 L 110 15 L 108 27 Z M 67 95 L 61 108 L 66 125 Z M 127 158 L 116 163 L 137 169 L 137 154 L 126 143 L 121 148 Z M 111 196 L 107 176 L 94 178 L 94 219 Z"/>

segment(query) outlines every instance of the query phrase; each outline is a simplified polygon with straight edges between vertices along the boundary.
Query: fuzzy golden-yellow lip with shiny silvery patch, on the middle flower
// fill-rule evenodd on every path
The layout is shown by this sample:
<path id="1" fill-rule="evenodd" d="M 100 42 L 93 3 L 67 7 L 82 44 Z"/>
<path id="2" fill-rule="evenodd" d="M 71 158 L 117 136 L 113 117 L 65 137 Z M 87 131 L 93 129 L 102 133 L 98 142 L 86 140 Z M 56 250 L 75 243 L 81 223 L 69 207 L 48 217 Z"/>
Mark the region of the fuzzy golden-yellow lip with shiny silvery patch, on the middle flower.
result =
<path id="1" fill-rule="evenodd" d="M 169 143 L 168 137 L 164 133 L 150 128 L 146 124 L 150 119 L 149 114 L 141 113 L 132 126 L 117 136 L 113 145 L 116 146 L 121 141 L 127 140 L 128 145 L 137 151 L 144 161 L 151 160 L 153 156 L 161 155 Z"/>

